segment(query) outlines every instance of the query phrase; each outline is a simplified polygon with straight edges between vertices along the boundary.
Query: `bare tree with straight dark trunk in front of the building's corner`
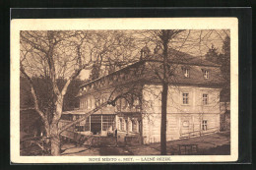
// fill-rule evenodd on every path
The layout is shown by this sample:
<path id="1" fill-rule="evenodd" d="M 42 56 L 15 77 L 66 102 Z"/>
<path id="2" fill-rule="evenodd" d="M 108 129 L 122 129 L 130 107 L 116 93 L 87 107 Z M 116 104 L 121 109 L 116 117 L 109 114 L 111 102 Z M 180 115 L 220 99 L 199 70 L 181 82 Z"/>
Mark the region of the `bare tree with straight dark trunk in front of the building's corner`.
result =
<path id="1" fill-rule="evenodd" d="M 205 52 L 211 48 L 213 43 L 219 44 L 224 39 L 226 30 L 183 30 L 183 29 L 162 29 L 138 31 L 138 37 L 146 44 L 142 52 L 146 53 L 145 58 L 153 61 L 151 71 L 160 80 L 161 85 L 161 122 L 160 122 L 160 153 L 166 154 L 166 108 L 168 85 L 175 85 L 176 63 L 189 63 L 187 53 L 205 58 Z M 154 52 L 149 48 L 156 46 Z M 148 48 L 148 49 L 147 49 Z M 147 58 L 148 56 L 148 58 Z M 156 64 L 157 63 L 157 64 Z"/>

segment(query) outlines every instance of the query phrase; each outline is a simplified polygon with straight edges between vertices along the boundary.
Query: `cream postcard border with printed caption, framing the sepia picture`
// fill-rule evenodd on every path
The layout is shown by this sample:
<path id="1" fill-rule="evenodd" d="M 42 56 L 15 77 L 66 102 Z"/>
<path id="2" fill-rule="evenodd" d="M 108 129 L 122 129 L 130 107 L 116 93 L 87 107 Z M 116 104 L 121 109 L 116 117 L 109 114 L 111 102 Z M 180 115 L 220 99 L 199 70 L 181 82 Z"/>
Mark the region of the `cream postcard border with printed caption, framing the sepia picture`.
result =
<path id="1" fill-rule="evenodd" d="M 230 29 L 230 155 L 21 156 L 20 30 L 48 29 Z M 13 163 L 146 163 L 228 162 L 238 158 L 238 20 L 236 18 L 16 19 L 11 21 L 11 162 Z M 93 160 L 93 159 L 94 160 Z M 98 159 L 100 160 L 98 161 Z M 109 158 L 109 159 L 107 159 Z M 130 159 L 131 158 L 131 159 Z M 160 159 L 167 158 L 163 161 Z M 91 161 L 90 161 L 91 159 Z M 108 160 L 108 161 L 107 161 Z M 145 160 L 145 161 L 143 161 Z M 148 161 L 147 161 L 148 160 Z"/>

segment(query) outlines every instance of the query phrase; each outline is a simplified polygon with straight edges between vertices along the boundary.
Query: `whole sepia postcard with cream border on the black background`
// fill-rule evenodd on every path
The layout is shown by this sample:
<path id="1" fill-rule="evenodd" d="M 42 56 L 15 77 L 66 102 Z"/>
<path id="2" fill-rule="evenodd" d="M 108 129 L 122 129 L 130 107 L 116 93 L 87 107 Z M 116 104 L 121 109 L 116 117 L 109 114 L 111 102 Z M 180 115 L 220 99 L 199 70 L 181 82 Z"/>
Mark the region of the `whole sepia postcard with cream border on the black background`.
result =
<path id="1" fill-rule="evenodd" d="M 92 20 L 12 23 L 17 162 L 235 160 L 235 19 Z"/>

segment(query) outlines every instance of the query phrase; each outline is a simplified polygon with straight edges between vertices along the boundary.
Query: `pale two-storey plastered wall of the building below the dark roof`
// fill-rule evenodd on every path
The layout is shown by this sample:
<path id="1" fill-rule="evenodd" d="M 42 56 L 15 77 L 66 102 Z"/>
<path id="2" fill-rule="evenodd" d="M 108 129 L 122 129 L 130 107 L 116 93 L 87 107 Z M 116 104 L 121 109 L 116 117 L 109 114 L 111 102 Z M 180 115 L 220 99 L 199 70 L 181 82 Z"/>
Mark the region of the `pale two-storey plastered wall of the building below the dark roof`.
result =
<path id="1" fill-rule="evenodd" d="M 178 140 L 182 121 L 189 121 L 189 131 L 199 131 L 202 120 L 208 128 L 220 127 L 220 88 L 197 86 L 169 86 L 167 101 L 166 141 Z M 143 136 L 145 143 L 160 142 L 160 85 L 145 85 L 143 90 Z M 189 93 L 189 104 L 183 104 L 182 92 Z M 209 104 L 203 105 L 203 93 L 208 93 Z"/>

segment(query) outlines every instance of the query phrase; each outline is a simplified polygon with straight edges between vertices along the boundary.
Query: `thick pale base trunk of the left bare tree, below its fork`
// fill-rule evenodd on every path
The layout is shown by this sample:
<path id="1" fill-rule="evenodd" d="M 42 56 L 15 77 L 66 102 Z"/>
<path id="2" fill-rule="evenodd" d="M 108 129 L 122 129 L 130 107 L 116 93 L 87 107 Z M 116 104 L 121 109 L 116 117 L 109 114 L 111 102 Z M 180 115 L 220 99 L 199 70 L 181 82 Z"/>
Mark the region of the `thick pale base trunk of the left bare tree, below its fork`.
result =
<path id="1" fill-rule="evenodd" d="M 51 125 L 51 155 L 60 155 L 60 136 L 58 133 L 58 124 Z"/>

